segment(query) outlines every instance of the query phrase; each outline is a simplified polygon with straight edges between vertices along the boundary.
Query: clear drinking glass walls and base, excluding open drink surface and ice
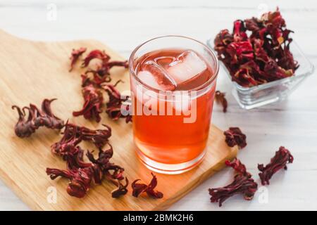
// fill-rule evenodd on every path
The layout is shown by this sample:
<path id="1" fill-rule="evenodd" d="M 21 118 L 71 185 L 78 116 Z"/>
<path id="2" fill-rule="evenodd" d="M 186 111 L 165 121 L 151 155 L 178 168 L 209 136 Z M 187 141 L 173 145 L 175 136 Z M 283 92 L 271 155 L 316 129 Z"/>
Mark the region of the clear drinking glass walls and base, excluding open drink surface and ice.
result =
<path id="1" fill-rule="evenodd" d="M 142 57 L 170 49 L 194 51 L 204 59 L 210 77 L 182 91 L 158 91 L 142 82 L 137 68 Z M 129 59 L 132 127 L 139 159 L 149 169 L 180 174 L 203 160 L 209 138 L 218 59 L 204 44 L 181 36 L 156 37 L 137 46 Z M 190 82 L 190 80 L 189 80 Z"/>

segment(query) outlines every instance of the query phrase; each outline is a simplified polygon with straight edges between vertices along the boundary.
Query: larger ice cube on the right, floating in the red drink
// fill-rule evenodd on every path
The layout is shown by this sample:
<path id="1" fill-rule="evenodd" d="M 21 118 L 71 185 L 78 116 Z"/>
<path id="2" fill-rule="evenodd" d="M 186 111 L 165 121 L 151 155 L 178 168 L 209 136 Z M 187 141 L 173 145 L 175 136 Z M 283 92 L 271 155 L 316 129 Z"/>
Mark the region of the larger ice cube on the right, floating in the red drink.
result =
<path id="1" fill-rule="evenodd" d="M 199 75 L 207 69 L 207 65 L 194 51 L 185 51 L 178 56 L 177 60 L 170 63 L 167 69 L 168 75 L 177 84 L 181 84 Z"/>

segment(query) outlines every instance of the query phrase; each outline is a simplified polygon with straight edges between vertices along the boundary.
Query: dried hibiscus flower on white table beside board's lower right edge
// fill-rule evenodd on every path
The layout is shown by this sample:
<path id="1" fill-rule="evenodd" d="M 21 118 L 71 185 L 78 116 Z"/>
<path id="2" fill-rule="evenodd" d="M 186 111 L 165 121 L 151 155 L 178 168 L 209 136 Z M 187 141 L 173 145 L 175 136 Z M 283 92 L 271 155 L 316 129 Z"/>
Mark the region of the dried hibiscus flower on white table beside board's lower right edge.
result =
<path id="1" fill-rule="evenodd" d="M 227 161 L 225 164 L 235 169 L 234 180 L 223 188 L 209 188 L 211 203 L 219 203 L 221 207 L 225 200 L 238 193 L 243 194 L 245 200 L 251 200 L 258 189 L 258 184 L 251 178 L 251 174 L 247 172 L 240 160 Z"/>

